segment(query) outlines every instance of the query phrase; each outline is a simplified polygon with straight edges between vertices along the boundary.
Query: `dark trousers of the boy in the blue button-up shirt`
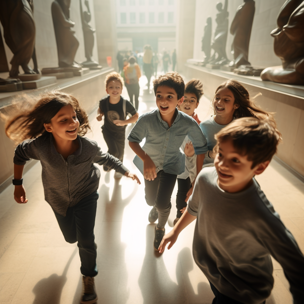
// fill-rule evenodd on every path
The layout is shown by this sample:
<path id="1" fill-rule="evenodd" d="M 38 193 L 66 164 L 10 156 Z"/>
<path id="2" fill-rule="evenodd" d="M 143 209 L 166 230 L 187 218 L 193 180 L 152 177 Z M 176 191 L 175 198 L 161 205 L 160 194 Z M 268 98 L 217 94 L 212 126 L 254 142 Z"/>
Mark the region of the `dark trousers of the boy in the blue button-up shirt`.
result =
<path id="1" fill-rule="evenodd" d="M 155 206 L 158 211 L 158 228 L 164 228 L 170 215 L 171 195 L 177 175 L 161 170 L 157 172 L 154 181 L 145 179 L 145 199 L 149 206 Z"/>

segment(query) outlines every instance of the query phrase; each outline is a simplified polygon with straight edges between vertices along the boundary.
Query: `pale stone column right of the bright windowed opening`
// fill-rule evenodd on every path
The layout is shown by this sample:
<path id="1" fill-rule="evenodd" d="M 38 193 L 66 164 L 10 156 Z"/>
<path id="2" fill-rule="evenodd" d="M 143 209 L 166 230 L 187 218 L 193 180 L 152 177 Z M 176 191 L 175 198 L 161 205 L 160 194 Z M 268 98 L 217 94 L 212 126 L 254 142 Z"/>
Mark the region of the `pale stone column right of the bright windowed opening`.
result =
<path id="1" fill-rule="evenodd" d="M 177 71 L 184 71 L 187 59 L 193 58 L 195 0 L 179 0 L 176 22 Z"/>

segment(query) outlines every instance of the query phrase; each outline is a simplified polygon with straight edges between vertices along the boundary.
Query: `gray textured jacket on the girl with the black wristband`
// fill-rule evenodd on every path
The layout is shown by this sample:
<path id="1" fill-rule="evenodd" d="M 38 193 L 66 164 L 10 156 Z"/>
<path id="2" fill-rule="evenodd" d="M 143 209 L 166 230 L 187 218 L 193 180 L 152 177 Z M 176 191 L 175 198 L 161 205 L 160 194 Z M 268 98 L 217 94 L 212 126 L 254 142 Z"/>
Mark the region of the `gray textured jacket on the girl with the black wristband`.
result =
<path id="1" fill-rule="evenodd" d="M 66 216 L 67 208 L 96 192 L 100 171 L 94 165 L 125 174 L 128 169 L 116 157 L 103 153 L 94 140 L 77 136 L 79 148 L 65 160 L 53 144 L 51 133 L 26 140 L 15 150 L 14 164 L 24 165 L 29 159 L 40 160 L 45 200 L 55 213 Z"/>

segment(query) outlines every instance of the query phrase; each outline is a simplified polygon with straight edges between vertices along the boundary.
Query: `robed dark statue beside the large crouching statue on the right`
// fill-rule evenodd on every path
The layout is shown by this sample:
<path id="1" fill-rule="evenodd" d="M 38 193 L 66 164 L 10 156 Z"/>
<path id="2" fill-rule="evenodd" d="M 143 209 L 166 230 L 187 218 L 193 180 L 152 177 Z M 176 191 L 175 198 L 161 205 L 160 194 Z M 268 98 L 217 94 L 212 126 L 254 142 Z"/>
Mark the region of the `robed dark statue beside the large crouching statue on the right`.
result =
<path id="1" fill-rule="evenodd" d="M 230 67 L 250 66 L 248 49 L 254 12 L 254 0 L 244 0 L 244 3 L 237 8 L 230 26 L 230 33 L 233 35 L 231 53 L 234 58 L 229 64 Z"/>

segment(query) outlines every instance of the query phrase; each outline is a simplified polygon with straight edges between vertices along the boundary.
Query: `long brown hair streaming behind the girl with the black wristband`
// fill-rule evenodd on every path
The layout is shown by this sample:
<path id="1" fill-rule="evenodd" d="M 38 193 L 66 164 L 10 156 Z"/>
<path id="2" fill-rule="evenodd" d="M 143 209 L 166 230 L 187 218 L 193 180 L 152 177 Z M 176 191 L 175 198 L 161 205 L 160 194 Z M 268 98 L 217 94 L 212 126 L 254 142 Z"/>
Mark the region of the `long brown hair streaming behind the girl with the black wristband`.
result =
<path id="1" fill-rule="evenodd" d="M 33 139 L 47 132 L 45 123 L 64 106 L 71 105 L 79 121 L 78 135 L 84 136 L 91 130 L 88 114 L 79 105 L 78 100 L 69 93 L 50 91 L 39 96 L 22 94 L 12 102 L 7 114 L 2 113 L 5 120 L 5 134 L 16 143 Z"/>

